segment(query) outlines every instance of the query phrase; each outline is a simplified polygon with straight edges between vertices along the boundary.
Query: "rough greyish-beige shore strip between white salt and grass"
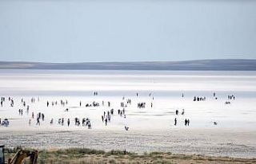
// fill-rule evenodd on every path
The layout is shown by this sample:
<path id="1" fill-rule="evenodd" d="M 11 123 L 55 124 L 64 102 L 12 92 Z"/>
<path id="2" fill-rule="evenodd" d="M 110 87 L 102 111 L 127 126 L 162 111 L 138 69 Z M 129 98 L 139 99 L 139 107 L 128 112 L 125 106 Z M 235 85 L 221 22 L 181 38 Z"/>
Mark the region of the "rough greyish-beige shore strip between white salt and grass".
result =
<path id="1" fill-rule="evenodd" d="M 6 147 L 39 150 L 70 147 L 97 150 L 127 150 L 143 154 L 154 151 L 200 154 L 214 157 L 255 158 L 256 131 L 0 131 Z"/>

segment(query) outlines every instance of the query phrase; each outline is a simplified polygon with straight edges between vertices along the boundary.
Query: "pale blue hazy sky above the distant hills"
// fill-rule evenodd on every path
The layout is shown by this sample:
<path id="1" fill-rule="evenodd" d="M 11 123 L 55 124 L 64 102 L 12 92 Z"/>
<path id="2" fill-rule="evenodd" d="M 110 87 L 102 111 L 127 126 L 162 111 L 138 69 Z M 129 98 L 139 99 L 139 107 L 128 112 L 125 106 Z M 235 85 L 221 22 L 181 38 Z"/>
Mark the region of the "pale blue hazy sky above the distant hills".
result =
<path id="1" fill-rule="evenodd" d="M 254 0 L 0 0 L 0 61 L 256 59 Z"/>

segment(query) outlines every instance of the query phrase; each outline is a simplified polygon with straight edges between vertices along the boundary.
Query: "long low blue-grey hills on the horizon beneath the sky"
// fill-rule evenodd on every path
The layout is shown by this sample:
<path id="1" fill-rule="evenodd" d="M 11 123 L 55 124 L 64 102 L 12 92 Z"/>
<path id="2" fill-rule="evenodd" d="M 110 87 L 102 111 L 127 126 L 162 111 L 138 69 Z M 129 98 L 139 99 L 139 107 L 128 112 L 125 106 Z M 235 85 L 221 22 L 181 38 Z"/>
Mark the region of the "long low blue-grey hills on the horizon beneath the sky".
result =
<path id="1" fill-rule="evenodd" d="M 256 71 L 256 60 L 39 63 L 0 61 L 0 69 Z"/>

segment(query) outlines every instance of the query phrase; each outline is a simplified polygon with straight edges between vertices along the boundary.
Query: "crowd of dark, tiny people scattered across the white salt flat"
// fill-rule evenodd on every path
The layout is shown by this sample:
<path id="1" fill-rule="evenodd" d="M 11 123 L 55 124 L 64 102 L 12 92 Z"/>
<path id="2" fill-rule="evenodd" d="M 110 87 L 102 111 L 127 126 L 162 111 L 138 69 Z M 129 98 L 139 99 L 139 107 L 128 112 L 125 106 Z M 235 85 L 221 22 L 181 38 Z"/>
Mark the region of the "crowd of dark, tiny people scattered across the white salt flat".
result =
<path id="1" fill-rule="evenodd" d="M 94 92 L 93 96 L 98 96 L 98 92 Z M 138 92 L 136 93 L 136 96 L 138 97 Z M 152 100 L 154 100 L 154 96 L 152 96 L 152 93 L 150 93 L 149 95 Z M 182 93 L 182 97 L 184 97 L 184 93 Z M 217 100 L 217 96 L 216 93 L 214 92 L 214 99 Z M 39 97 L 38 97 L 38 102 L 39 102 Z M 153 101 L 151 100 L 150 103 L 150 107 L 153 107 Z M 228 95 L 228 100 L 235 100 L 235 96 L 234 95 Z M 14 99 L 12 97 L 8 97 L 7 101 L 10 103 L 10 107 L 14 107 Z M 24 114 L 24 110 L 26 110 L 26 114 L 28 115 L 30 113 L 30 105 L 28 103 L 26 103 L 26 101 L 22 98 L 21 100 L 21 106 L 22 108 L 18 109 L 18 115 L 23 115 Z M 36 99 L 34 97 L 31 98 L 31 103 L 36 103 Z M 194 96 L 194 100 L 193 101 L 206 101 L 206 96 Z M 1 107 L 3 107 L 4 103 L 6 102 L 6 97 L 1 97 Z M 226 101 L 226 103 L 228 103 L 230 101 Z M 102 101 L 101 103 L 97 102 L 97 101 L 93 101 L 92 103 L 82 103 L 82 101 L 80 100 L 78 102 L 78 107 L 109 107 L 110 108 L 110 101 Z M 130 98 L 126 99 L 124 96 L 122 96 L 122 101 L 120 102 L 120 108 L 116 109 L 117 111 L 117 115 L 119 115 L 120 117 L 126 119 L 126 107 L 129 107 L 132 104 L 132 100 Z M 54 101 L 50 101 L 50 100 L 46 100 L 46 107 L 49 106 L 58 106 L 60 105 L 61 107 L 65 107 L 68 105 L 68 100 L 54 100 Z M 141 108 L 146 108 L 147 104 L 146 102 L 139 102 L 138 101 L 138 110 Z M 67 107 L 64 111 L 69 111 L 69 108 Z M 178 111 L 175 110 L 174 111 L 176 117 L 174 118 L 174 126 L 178 125 L 178 119 L 184 120 L 184 124 L 185 126 L 190 126 L 190 119 L 185 119 L 184 116 L 185 115 L 185 110 L 182 109 L 182 111 Z M 50 117 L 50 116 L 49 116 Z M 49 118 L 48 117 L 48 118 Z M 102 119 L 102 123 L 105 124 L 105 126 L 108 125 L 108 123 L 111 122 L 111 119 L 113 119 L 114 117 L 114 108 L 111 108 L 110 110 L 107 111 L 103 111 L 103 114 L 101 115 L 101 119 Z M 31 125 L 32 120 L 35 119 L 36 121 L 34 121 L 33 123 L 35 123 L 36 126 L 40 126 L 42 122 L 45 121 L 45 114 L 42 112 L 38 112 L 36 114 L 36 117 L 34 118 L 34 111 L 32 109 L 31 112 L 31 118 L 29 119 L 29 125 Z M 70 119 L 70 118 L 58 118 L 58 119 L 50 119 L 50 125 L 61 125 L 61 126 L 67 126 L 70 127 L 70 120 L 74 120 L 74 126 L 81 126 L 82 127 L 88 127 L 88 129 L 91 129 L 91 121 L 89 118 L 82 118 L 82 122 L 80 122 L 80 119 L 78 119 L 78 117 L 75 117 L 74 119 Z M 56 121 L 54 123 L 54 121 Z M 49 122 L 48 122 L 49 123 Z M 0 119 L 0 126 L 5 126 L 8 127 L 10 125 L 10 122 L 8 119 Z M 217 123 L 215 124 L 217 125 Z M 125 126 L 125 130 L 128 131 L 129 127 Z"/>

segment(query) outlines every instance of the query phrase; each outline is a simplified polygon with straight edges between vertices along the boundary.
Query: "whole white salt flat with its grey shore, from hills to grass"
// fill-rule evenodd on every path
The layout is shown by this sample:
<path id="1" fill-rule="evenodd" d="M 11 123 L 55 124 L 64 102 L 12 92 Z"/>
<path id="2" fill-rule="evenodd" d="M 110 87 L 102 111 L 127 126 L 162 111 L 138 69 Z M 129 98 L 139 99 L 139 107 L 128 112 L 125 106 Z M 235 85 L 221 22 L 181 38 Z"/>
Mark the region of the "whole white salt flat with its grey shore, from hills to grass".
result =
<path id="1" fill-rule="evenodd" d="M 93 96 L 94 91 L 99 95 Z M 213 92 L 218 100 L 214 100 Z M 0 127 L 0 144 L 6 146 L 88 147 L 139 153 L 170 151 L 242 158 L 255 158 L 256 154 L 256 72 L 1 70 L 0 94 L 14 98 L 14 107 L 10 107 L 10 103 L 0 107 L 0 118 L 10 119 L 9 127 Z M 228 95 L 236 99 L 226 105 Z M 35 103 L 30 103 L 32 96 Z M 122 96 L 132 101 L 126 107 L 126 119 L 117 114 L 117 110 L 122 109 Z M 194 102 L 194 96 L 206 96 L 206 101 Z M 28 114 L 22 107 L 22 99 L 30 105 Z M 47 100 L 50 103 L 68 100 L 68 104 L 46 107 Z M 79 107 L 80 100 L 82 107 Z M 93 101 L 100 104 L 104 101 L 105 105 L 85 107 Z M 106 107 L 107 101 L 111 107 Z M 146 102 L 146 108 L 138 109 L 139 102 Z M 68 112 L 64 111 L 67 107 Z M 24 109 L 23 115 L 18 115 L 19 108 Z M 111 108 L 114 115 L 105 126 L 101 115 Z M 185 115 L 175 115 L 176 109 L 181 112 L 183 108 Z M 46 115 L 40 127 L 35 125 L 35 119 L 29 126 L 32 111 L 34 115 L 38 112 Z M 92 129 L 75 127 L 75 117 L 90 118 Z M 64 126 L 58 125 L 59 118 L 65 119 Z M 66 126 L 68 118 L 70 127 Z M 54 119 L 53 126 L 50 119 Z M 190 119 L 190 127 L 184 126 L 184 119 Z M 124 126 L 130 130 L 125 131 Z"/>

